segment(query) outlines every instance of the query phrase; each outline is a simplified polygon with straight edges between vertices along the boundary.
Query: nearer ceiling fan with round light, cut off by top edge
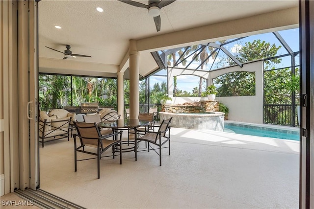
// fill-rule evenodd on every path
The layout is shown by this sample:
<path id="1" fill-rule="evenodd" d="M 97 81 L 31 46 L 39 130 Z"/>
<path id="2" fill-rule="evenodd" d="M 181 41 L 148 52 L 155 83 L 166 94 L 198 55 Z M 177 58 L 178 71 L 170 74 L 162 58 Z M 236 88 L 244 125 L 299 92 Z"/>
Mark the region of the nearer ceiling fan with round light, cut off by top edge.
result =
<path id="1" fill-rule="evenodd" d="M 164 6 L 167 6 L 171 3 L 173 3 L 175 0 L 149 0 L 148 5 L 137 2 L 137 1 L 132 1 L 132 0 L 119 0 L 121 2 L 130 4 L 132 6 L 136 7 L 142 7 L 148 9 L 148 14 L 150 16 L 154 17 L 154 22 L 156 25 L 157 32 L 160 30 L 160 9 Z"/>

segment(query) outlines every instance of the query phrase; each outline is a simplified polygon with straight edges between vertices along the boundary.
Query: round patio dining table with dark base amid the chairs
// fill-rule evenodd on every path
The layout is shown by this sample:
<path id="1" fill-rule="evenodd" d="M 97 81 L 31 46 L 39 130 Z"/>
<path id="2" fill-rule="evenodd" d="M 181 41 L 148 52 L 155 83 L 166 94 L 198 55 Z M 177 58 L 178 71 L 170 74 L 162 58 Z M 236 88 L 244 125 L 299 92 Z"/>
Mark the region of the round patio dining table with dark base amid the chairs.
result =
<path id="1" fill-rule="evenodd" d="M 136 128 L 140 126 L 146 126 L 150 124 L 150 121 L 139 120 L 139 119 L 119 119 L 119 120 L 112 120 L 112 121 L 102 121 L 97 125 L 100 128 L 111 128 L 112 131 L 115 133 L 119 130 L 130 130 L 134 129 L 134 136 L 136 136 Z M 128 137 L 129 139 L 129 137 Z M 130 140 L 123 140 L 122 145 L 120 147 L 122 152 L 131 152 L 135 150 L 135 142 Z"/>

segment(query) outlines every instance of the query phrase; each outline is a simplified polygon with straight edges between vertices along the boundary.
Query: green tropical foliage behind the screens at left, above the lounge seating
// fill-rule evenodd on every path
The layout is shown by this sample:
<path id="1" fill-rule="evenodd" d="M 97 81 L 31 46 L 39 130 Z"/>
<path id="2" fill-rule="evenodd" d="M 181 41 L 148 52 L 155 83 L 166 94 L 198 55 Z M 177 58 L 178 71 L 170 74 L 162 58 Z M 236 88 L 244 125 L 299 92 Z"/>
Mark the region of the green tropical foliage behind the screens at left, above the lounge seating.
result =
<path id="1" fill-rule="evenodd" d="M 116 79 L 40 74 L 38 80 L 41 109 L 80 106 L 82 102 L 117 105 Z"/>

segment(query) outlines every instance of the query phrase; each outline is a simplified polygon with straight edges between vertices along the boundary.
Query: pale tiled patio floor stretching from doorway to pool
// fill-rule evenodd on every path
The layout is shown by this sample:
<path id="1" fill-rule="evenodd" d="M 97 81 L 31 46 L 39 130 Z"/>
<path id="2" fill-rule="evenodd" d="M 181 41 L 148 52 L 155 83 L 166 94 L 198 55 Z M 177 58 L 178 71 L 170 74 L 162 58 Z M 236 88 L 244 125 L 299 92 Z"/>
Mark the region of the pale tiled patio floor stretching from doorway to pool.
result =
<path id="1" fill-rule="evenodd" d="M 162 166 L 155 152 L 124 153 L 101 160 L 100 179 L 96 160 L 74 172 L 73 158 L 73 139 L 40 148 L 40 187 L 86 208 L 299 207 L 299 141 L 171 128 Z"/>

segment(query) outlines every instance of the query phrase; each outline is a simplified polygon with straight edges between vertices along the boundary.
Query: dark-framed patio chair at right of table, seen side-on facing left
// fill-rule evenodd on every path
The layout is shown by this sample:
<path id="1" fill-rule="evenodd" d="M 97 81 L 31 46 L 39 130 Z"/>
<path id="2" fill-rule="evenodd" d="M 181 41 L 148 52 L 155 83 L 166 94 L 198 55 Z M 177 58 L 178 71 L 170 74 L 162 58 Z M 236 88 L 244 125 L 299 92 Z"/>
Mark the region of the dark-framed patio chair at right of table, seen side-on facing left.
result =
<path id="1" fill-rule="evenodd" d="M 161 166 L 161 148 L 168 148 L 169 155 L 170 155 L 170 123 L 172 117 L 168 119 L 162 120 L 158 131 L 138 131 L 145 133 L 143 136 L 138 137 L 139 135 L 135 136 L 135 144 L 139 143 L 140 141 L 148 142 L 148 151 L 152 148 L 158 155 L 159 155 L 159 166 Z M 167 133 L 168 132 L 168 133 Z M 162 147 L 168 141 L 167 147 Z M 151 146 L 154 144 L 157 148 Z M 159 153 L 156 149 L 159 148 Z M 137 161 L 137 146 L 135 146 L 135 161 Z"/>

